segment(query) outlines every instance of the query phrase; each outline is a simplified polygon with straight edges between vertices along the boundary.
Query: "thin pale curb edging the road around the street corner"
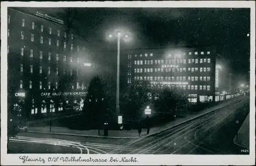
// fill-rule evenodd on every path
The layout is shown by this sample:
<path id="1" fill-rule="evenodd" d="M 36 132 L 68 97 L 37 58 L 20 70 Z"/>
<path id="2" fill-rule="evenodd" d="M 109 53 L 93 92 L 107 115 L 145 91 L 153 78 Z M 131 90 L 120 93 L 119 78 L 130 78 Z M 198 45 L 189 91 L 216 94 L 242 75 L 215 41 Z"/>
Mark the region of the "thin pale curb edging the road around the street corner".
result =
<path id="1" fill-rule="evenodd" d="M 232 102 L 237 102 L 237 101 L 240 101 L 240 100 L 242 100 L 242 99 L 244 99 L 244 98 L 247 98 L 247 97 L 248 97 L 248 96 L 243 97 L 243 98 L 240 98 L 240 99 L 235 100 L 235 101 L 232 101 Z M 163 129 L 163 130 L 158 131 L 158 132 L 156 132 L 156 133 L 152 133 L 152 134 L 148 134 L 148 135 L 144 135 L 144 136 L 140 136 L 140 137 L 111 137 L 111 136 L 83 135 L 83 134 L 70 134 L 70 133 L 54 133 L 54 132 L 41 132 L 41 131 L 26 131 L 26 132 L 28 132 L 28 133 L 54 134 L 54 135 L 70 135 L 70 136 L 82 136 L 82 137 L 95 137 L 95 138 L 136 139 L 136 138 L 141 138 L 141 137 L 154 136 L 154 135 L 159 134 L 159 133 L 161 133 L 161 132 L 164 132 L 164 131 L 166 131 L 166 130 L 175 128 L 175 127 L 177 127 L 177 126 L 179 126 L 179 125 L 182 125 L 182 124 L 184 124 L 184 123 L 186 123 L 186 122 L 193 121 L 193 120 L 195 120 L 196 118 L 202 117 L 202 116 L 204 116 L 204 115 L 206 115 L 206 114 L 208 114 L 208 113 L 211 113 L 211 112 L 213 112 L 213 111 L 216 111 L 217 109 L 220 109 L 220 108 L 222 108 L 222 107 L 225 107 L 225 106 L 231 104 L 232 102 L 229 102 L 228 104 L 225 104 L 225 105 L 223 105 L 223 106 L 221 106 L 221 107 L 217 107 L 217 108 L 215 108 L 215 109 L 213 109 L 213 110 L 211 110 L 211 111 L 205 112 L 205 113 L 203 113 L 203 114 L 201 114 L 201 115 L 192 117 L 192 118 L 190 118 L 189 120 L 185 120 L 185 121 L 183 121 L 183 122 L 181 122 L 181 123 L 178 123 L 178 124 L 176 124 L 176 125 L 174 125 L 174 126 L 168 127 L 168 128 L 166 128 L 166 129 Z"/>

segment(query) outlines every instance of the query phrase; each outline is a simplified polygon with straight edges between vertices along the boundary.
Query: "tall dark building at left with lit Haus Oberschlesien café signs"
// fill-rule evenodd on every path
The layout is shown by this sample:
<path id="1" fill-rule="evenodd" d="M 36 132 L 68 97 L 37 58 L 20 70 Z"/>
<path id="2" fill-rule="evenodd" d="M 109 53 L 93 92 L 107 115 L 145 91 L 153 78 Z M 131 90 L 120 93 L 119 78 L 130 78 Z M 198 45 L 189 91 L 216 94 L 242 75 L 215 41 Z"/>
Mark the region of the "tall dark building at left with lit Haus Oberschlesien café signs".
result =
<path id="1" fill-rule="evenodd" d="M 8 8 L 7 20 L 8 103 L 27 115 L 81 110 L 93 72 L 82 38 L 41 11 Z"/>

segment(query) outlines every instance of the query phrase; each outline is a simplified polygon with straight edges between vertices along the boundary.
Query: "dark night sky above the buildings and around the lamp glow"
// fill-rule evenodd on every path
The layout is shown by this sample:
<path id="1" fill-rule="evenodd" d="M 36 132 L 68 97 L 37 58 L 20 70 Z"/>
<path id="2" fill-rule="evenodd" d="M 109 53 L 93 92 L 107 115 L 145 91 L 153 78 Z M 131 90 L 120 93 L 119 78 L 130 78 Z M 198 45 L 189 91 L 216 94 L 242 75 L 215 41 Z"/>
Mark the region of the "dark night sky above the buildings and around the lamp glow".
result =
<path id="1" fill-rule="evenodd" d="M 76 8 L 74 28 L 93 52 L 116 50 L 106 34 L 125 27 L 133 41 L 121 50 L 164 48 L 169 45 L 216 45 L 228 59 L 231 73 L 250 70 L 250 9 L 241 8 Z M 61 8 L 45 9 L 63 17 Z M 245 76 L 246 77 L 246 76 Z"/>

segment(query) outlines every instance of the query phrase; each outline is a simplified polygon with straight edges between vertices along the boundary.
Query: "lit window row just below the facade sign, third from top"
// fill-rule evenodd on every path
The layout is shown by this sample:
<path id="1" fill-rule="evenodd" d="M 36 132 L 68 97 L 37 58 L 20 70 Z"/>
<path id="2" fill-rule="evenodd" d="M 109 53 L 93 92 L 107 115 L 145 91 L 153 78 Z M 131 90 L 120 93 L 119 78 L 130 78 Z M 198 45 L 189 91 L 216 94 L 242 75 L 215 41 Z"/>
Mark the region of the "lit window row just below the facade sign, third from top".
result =
<path id="1" fill-rule="evenodd" d="M 181 67 L 181 68 L 155 68 L 155 70 L 153 70 L 153 68 L 144 68 L 144 73 L 153 73 L 155 71 L 155 73 L 157 72 L 175 72 L 175 69 L 177 72 L 186 72 L 186 68 L 185 67 Z M 198 72 L 198 67 L 188 67 L 187 68 L 188 72 Z M 210 67 L 200 67 L 200 72 L 210 72 Z M 135 68 L 134 69 L 134 73 L 143 73 L 143 68 Z M 128 75 L 131 75 L 131 70 L 128 70 Z"/>

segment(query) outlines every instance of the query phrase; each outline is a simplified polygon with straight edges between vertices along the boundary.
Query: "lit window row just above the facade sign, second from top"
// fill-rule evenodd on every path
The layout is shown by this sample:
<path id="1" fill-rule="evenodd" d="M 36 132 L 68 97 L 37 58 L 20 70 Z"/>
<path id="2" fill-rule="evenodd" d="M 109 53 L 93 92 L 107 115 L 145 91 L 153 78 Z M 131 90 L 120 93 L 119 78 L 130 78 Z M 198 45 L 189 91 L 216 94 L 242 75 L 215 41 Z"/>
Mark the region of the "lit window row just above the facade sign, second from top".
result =
<path id="1" fill-rule="evenodd" d="M 188 59 L 188 63 L 198 63 L 199 59 Z M 176 64 L 186 64 L 186 59 L 177 59 Z M 210 63 L 210 58 L 200 58 L 200 63 Z M 143 60 L 135 60 L 135 65 L 143 65 Z M 154 64 L 154 60 L 144 60 L 144 64 Z M 155 60 L 155 64 L 164 64 L 164 60 Z M 165 60 L 165 64 L 175 64 L 174 59 Z"/>

